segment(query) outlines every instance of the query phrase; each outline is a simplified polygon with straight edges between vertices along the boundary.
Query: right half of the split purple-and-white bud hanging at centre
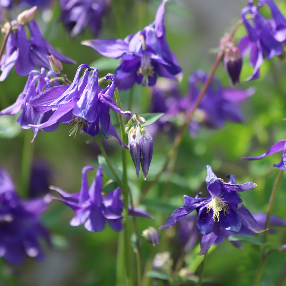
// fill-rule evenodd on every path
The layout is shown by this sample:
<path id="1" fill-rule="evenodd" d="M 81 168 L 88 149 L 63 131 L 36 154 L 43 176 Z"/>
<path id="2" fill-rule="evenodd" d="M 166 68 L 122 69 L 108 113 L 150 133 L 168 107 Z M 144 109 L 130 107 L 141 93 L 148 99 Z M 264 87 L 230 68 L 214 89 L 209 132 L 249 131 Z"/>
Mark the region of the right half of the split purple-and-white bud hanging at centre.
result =
<path id="1" fill-rule="evenodd" d="M 146 180 L 153 155 L 153 138 L 148 128 L 143 127 L 141 131 L 143 135 L 139 138 L 139 146 L 142 154 L 140 161 L 143 178 Z"/>

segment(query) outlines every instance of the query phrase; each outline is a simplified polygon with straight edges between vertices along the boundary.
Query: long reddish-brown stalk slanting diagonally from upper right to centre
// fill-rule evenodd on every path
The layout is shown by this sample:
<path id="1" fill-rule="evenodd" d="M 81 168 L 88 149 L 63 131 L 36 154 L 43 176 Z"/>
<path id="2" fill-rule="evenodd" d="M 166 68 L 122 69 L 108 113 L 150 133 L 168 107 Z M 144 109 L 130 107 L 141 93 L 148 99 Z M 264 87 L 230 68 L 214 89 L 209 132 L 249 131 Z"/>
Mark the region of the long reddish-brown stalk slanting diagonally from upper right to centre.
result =
<path id="1" fill-rule="evenodd" d="M 233 28 L 233 30 L 231 31 L 230 35 L 229 35 L 229 40 L 234 36 L 235 32 L 237 31 L 238 27 L 243 23 L 243 21 L 240 19 L 237 24 L 235 25 L 235 27 Z M 215 60 L 214 65 L 212 66 L 212 69 L 210 71 L 210 74 L 208 75 L 207 80 L 204 82 L 204 85 L 202 86 L 202 89 L 200 90 L 200 93 L 198 95 L 198 97 L 196 98 L 196 101 L 194 102 L 194 105 L 192 106 L 192 109 L 189 110 L 189 112 L 186 115 L 186 121 L 184 123 L 184 125 L 180 128 L 180 130 L 178 131 L 178 134 L 176 135 L 172 148 L 169 150 L 167 158 L 161 168 L 161 170 L 157 173 L 157 175 L 155 176 L 155 178 L 152 180 L 152 182 L 150 182 L 148 184 L 148 186 L 146 187 L 146 189 L 141 193 L 140 198 L 138 200 L 138 203 L 141 202 L 143 200 L 143 198 L 148 194 L 149 190 L 152 188 L 152 186 L 154 186 L 160 176 L 163 174 L 164 170 L 167 168 L 171 158 L 173 156 L 175 156 L 176 154 L 176 150 L 179 147 L 181 140 L 182 140 L 182 136 L 184 135 L 185 130 L 187 129 L 187 127 L 189 126 L 192 117 L 194 116 L 194 112 L 196 111 L 196 109 L 198 108 L 213 76 L 215 75 L 215 72 L 219 66 L 219 63 L 221 62 L 221 59 L 223 58 L 224 55 L 224 51 L 221 50 L 219 51 L 219 53 L 217 54 L 217 58 Z"/>

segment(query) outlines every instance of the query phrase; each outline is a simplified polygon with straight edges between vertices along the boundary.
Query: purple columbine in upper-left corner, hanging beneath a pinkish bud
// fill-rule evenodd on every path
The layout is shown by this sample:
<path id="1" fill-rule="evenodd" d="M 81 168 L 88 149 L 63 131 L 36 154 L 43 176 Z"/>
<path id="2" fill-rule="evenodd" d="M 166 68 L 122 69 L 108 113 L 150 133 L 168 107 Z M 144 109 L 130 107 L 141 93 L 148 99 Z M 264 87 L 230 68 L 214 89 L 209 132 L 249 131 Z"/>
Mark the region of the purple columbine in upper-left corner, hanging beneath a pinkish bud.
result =
<path id="1" fill-rule="evenodd" d="M 75 63 L 43 39 L 34 19 L 27 26 L 31 35 L 30 40 L 27 39 L 25 28 L 21 24 L 17 25 L 17 29 L 13 30 L 8 37 L 6 54 L 1 57 L 0 61 L 2 71 L 0 81 L 7 78 L 14 66 L 19 76 L 27 76 L 31 70 L 35 69 L 35 66 L 50 69 L 47 56 L 51 54 L 59 61 Z"/>

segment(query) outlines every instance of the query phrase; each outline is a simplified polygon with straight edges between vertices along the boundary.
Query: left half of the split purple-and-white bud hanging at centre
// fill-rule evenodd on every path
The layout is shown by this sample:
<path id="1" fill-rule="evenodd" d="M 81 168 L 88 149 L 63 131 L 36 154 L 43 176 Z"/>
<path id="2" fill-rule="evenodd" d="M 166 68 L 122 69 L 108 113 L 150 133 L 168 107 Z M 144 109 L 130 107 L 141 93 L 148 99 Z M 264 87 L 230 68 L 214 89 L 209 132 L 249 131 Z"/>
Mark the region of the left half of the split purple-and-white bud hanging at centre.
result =
<path id="1" fill-rule="evenodd" d="M 135 166 L 138 181 L 139 181 L 140 157 L 141 157 L 141 151 L 140 151 L 140 146 L 139 146 L 140 136 L 141 136 L 140 127 L 137 127 L 136 129 L 132 127 L 130 129 L 129 135 L 128 135 L 128 143 L 129 143 L 128 145 L 129 145 L 131 158 Z"/>

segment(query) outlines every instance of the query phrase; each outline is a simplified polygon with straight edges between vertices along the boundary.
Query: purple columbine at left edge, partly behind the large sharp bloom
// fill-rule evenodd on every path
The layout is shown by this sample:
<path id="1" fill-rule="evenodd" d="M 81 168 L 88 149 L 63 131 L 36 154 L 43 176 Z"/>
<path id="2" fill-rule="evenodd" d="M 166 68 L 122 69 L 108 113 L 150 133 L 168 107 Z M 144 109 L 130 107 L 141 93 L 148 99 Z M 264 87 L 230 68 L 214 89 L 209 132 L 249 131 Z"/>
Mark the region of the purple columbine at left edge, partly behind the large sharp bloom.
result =
<path id="1" fill-rule="evenodd" d="M 57 74 L 55 72 L 48 72 L 46 74 L 44 68 L 41 69 L 41 72 L 37 70 L 32 70 L 29 73 L 25 88 L 23 92 L 18 96 L 16 102 L 0 112 L 0 116 L 12 116 L 22 110 L 22 113 L 20 114 L 17 122 L 23 129 L 32 129 L 34 137 L 31 143 L 35 140 L 40 129 L 46 132 L 53 132 L 58 126 L 58 123 L 55 123 L 45 128 L 31 127 L 30 124 L 36 125 L 46 122 L 53 114 L 53 111 L 49 110 L 44 114 L 38 114 L 33 110 L 31 106 L 27 105 L 27 103 L 36 98 L 37 95 L 43 91 L 43 89 L 49 90 L 49 88 L 51 88 L 51 83 L 49 79 L 55 77 L 57 77 Z M 58 81 L 53 82 L 53 86 L 57 86 L 58 88 L 60 88 Z"/>

